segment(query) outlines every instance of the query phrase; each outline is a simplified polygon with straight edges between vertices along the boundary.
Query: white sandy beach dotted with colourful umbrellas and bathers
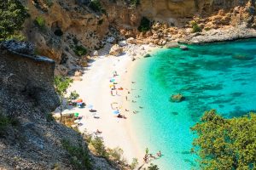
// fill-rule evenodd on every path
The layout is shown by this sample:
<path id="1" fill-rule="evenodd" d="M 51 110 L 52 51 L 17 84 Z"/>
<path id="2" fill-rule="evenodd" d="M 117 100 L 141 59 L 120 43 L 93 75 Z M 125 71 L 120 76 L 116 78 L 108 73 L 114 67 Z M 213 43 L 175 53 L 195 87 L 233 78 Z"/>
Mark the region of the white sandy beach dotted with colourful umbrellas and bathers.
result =
<path id="1" fill-rule="evenodd" d="M 118 57 L 100 55 L 90 62 L 89 67 L 85 68 L 82 80 L 74 81 L 67 90 L 67 94 L 75 90 L 86 106 L 81 109 L 68 107 L 63 111 L 63 114 L 78 112 L 79 116 L 83 116 L 79 131 L 81 133 L 101 131 L 100 137 L 104 144 L 110 149 L 119 147 L 124 150 L 123 156 L 128 163 L 131 163 L 133 158 L 137 158 L 140 163 L 143 163 L 145 150 L 145 148 L 139 147 L 134 132 L 131 130 L 130 118 L 133 116 L 133 112 L 129 108 L 131 99 L 129 99 L 128 91 L 131 92 L 132 81 L 136 82 L 136 80 L 132 80 L 132 70 L 137 59 L 143 59 L 142 54 L 152 50 L 152 47 L 148 45 L 136 48 L 136 56 L 126 49 L 127 53 Z M 132 61 L 133 58 L 136 60 Z M 113 76 L 115 73 L 117 76 Z M 114 83 L 110 82 L 111 79 L 114 79 Z M 113 90 L 112 95 L 113 84 L 117 90 Z M 126 96 L 128 96 L 127 100 Z M 96 110 L 96 112 L 90 112 L 90 109 Z M 117 114 L 113 114 L 114 111 L 119 111 L 120 115 L 125 118 L 117 117 Z M 59 111 L 55 111 L 55 114 L 58 113 Z"/>

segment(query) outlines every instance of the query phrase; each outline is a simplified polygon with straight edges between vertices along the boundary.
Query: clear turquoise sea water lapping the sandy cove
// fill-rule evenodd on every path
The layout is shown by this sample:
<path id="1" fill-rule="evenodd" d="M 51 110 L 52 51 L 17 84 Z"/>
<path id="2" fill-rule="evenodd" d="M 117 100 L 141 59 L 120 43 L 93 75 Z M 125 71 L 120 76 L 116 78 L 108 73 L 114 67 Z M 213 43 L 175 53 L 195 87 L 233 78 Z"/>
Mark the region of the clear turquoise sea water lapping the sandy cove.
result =
<path id="1" fill-rule="evenodd" d="M 137 62 L 132 122 L 141 147 L 163 153 L 153 161 L 161 170 L 196 169 L 189 127 L 204 111 L 234 117 L 256 110 L 256 39 L 160 49 Z M 185 101 L 170 102 L 177 93 Z"/>

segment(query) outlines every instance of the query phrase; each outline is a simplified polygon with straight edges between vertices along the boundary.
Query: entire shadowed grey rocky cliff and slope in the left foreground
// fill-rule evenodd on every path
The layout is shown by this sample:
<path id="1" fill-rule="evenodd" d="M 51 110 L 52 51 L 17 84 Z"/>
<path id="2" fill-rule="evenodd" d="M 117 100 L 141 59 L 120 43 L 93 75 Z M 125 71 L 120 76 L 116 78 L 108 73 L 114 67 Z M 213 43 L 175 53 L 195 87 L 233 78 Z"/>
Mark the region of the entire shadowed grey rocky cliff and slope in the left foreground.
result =
<path id="1" fill-rule="evenodd" d="M 59 105 L 53 86 L 55 61 L 33 51 L 32 43 L 0 45 L 0 169 L 75 169 L 63 141 L 79 153 L 83 150 L 81 156 L 92 169 L 114 169 L 90 154 L 79 133 L 49 120 L 49 112 Z M 75 159 L 78 165 L 82 158 Z"/>

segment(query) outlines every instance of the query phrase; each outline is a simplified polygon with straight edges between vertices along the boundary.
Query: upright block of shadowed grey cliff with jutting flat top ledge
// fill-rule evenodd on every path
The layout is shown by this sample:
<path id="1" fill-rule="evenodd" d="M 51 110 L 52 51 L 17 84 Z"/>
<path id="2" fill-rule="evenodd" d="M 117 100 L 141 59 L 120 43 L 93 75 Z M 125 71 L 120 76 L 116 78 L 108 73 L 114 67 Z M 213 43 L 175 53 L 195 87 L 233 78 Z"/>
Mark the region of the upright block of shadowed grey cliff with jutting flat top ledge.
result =
<path id="1" fill-rule="evenodd" d="M 31 44 L 30 44 L 31 46 Z M 0 51 L 0 107 L 9 114 L 29 111 L 54 111 L 59 105 L 53 85 L 55 61 L 35 56 L 26 43 L 4 42 Z"/>

